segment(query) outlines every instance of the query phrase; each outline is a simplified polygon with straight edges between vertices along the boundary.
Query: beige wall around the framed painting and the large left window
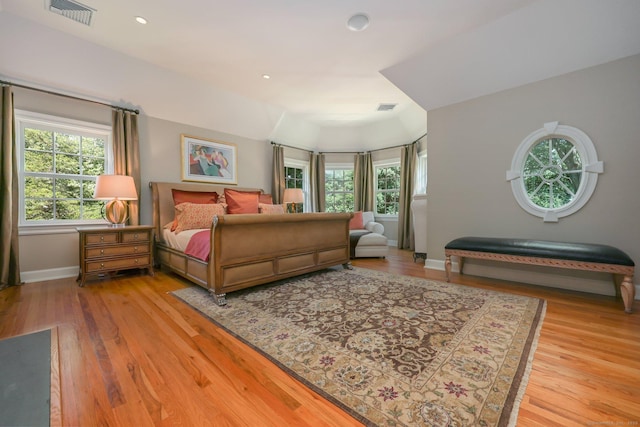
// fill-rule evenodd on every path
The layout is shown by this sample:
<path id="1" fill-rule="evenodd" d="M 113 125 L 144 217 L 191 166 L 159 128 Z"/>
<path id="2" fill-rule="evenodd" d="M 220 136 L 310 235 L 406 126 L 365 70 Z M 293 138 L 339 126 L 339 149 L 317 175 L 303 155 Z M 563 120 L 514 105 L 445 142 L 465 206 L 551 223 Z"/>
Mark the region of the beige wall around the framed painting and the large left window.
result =
<path id="1" fill-rule="evenodd" d="M 65 99 L 54 95 L 16 89 L 17 109 L 110 125 L 111 109 L 97 104 Z M 271 190 L 271 146 L 265 141 L 197 128 L 143 114 L 139 117 L 140 167 L 142 188 L 140 219 L 151 224 L 150 181 L 179 182 L 180 135 L 189 134 L 217 139 L 237 145 L 238 186 Z M 20 270 L 23 280 L 67 277 L 77 273 L 78 234 L 73 227 L 45 230 L 23 229 L 20 232 Z"/>

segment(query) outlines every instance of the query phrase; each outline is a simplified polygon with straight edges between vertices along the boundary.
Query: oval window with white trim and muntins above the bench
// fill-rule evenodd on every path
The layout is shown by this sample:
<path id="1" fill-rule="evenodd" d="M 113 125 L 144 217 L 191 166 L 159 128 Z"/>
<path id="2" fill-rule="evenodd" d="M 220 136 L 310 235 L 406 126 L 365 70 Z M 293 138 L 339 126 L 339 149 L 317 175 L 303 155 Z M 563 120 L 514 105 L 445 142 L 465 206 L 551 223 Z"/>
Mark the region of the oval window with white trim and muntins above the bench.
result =
<path id="1" fill-rule="evenodd" d="M 584 132 L 551 122 L 522 141 L 507 180 L 525 211 L 557 222 L 587 203 L 602 171 Z"/>

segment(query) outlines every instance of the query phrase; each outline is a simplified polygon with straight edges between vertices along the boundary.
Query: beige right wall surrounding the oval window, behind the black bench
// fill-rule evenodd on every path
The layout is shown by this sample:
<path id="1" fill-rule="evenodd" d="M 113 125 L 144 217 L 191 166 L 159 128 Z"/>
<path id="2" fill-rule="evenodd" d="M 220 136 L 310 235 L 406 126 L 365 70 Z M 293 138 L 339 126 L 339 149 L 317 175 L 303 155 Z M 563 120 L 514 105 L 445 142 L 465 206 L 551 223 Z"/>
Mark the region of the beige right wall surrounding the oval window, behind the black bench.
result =
<path id="1" fill-rule="evenodd" d="M 427 120 L 427 266 L 441 265 L 447 242 L 471 235 L 609 244 L 640 261 L 640 55 L 429 111 Z M 550 121 L 586 132 L 604 161 L 591 200 L 558 223 L 520 208 L 505 176 L 520 142 Z M 504 264 L 466 265 L 470 274 L 511 274 Z M 551 280 L 567 287 L 557 272 Z"/>

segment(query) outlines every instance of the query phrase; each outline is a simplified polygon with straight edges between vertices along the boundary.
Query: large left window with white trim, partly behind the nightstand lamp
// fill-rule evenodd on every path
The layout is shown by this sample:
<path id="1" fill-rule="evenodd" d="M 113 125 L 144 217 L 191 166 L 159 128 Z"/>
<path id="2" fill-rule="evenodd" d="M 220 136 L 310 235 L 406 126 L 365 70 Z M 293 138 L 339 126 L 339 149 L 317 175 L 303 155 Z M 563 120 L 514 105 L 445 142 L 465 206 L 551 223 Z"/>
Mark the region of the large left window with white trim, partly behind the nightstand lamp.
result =
<path id="1" fill-rule="evenodd" d="M 16 110 L 20 225 L 103 222 L 93 199 L 112 172 L 109 126 Z"/>

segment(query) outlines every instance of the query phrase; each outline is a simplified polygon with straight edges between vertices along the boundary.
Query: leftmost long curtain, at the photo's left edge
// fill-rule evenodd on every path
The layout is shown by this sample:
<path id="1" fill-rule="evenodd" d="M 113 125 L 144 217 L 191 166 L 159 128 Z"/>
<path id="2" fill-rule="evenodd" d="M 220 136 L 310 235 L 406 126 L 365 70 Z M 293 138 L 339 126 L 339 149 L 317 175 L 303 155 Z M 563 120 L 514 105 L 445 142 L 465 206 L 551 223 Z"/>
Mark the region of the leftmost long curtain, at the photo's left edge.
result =
<path id="1" fill-rule="evenodd" d="M 20 284 L 18 260 L 18 158 L 10 86 L 0 92 L 0 289 Z"/>

